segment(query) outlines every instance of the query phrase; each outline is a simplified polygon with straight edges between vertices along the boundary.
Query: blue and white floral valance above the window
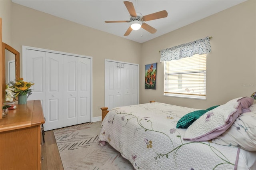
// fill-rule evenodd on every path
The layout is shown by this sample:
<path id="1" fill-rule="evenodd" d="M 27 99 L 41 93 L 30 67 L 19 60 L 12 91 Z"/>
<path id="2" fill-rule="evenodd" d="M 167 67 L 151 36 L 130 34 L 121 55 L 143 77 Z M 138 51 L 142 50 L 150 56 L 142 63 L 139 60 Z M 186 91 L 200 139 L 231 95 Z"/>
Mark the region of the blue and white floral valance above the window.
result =
<path id="1" fill-rule="evenodd" d="M 171 48 L 162 49 L 160 51 L 160 61 L 177 60 L 184 57 L 191 57 L 194 54 L 207 54 L 211 51 L 210 38 L 206 37 L 194 42 L 188 42 Z"/>

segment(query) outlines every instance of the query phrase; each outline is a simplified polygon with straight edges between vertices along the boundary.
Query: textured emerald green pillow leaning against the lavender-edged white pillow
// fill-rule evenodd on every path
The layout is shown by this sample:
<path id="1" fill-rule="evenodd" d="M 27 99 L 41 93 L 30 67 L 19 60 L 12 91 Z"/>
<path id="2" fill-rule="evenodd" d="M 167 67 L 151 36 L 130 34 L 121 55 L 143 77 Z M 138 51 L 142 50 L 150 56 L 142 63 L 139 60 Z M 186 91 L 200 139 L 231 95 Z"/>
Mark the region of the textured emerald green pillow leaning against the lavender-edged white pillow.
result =
<path id="1" fill-rule="evenodd" d="M 208 110 L 198 110 L 198 111 L 193 111 L 184 115 L 178 121 L 176 128 L 188 128 L 190 125 L 192 125 L 194 121 L 196 121 L 196 119 L 204 115 L 204 113 L 206 112 L 208 112 Z"/>

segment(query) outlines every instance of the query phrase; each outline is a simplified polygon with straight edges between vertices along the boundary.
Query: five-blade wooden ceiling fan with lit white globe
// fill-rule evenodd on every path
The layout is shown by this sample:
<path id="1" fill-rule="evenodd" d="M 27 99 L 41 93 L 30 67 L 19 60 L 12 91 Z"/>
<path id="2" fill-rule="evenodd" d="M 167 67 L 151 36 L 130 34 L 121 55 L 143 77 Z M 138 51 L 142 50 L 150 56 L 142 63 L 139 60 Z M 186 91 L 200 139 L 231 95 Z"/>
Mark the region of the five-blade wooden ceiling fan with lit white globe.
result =
<path id="1" fill-rule="evenodd" d="M 129 14 L 130 14 L 130 20 L 128 21 L 105 21 L 106 23 L 116 23 L 116 22 L 130 22 L 130 27 L 125 32 L 124 36 L 128 36 L 132 30 L 139 30 L 140 27 L 144 30 L 150 32 L 151 34 L 154 34 L 156 32 L 156 29 L 152 26 L 145 23 L 145 21 L 150 20 L 156 20 L 160 18 L 167 17 L 168 13 L 166 10 L 155 12 L 153 14 L 148 14 L 146 16 L 142 16 L 140 13 L 136 13 L 134 6 L 132 2 L 124 1 L 124 5 L 126 6 Z"/>

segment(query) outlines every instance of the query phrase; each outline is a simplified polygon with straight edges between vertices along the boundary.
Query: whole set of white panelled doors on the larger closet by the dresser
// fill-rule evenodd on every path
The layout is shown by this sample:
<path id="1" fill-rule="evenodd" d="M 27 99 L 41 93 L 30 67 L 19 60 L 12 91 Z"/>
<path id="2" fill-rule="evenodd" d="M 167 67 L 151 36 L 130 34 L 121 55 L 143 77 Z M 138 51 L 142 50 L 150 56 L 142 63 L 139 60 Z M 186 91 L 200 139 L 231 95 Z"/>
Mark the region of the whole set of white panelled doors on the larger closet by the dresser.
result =
<path id="1" fill-rule="evenodd" d="M 91 121 L 92 58 L 26 46 L 22 56 L 23 78 L 35 83 L 28 100 L 41 101 L 45 130 Z"/>

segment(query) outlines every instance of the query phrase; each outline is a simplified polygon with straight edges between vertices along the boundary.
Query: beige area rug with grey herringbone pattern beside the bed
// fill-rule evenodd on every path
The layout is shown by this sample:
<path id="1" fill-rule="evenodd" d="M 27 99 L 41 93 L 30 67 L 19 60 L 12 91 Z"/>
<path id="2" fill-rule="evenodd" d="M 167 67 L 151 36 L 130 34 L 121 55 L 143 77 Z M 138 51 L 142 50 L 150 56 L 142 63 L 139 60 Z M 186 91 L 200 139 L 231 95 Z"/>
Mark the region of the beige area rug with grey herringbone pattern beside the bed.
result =
<path id="1" fill-rule="evenodd" d="M 100 146 L 101 121 L 54 130 L 64 170 L 133 170 L 112 146 Z"/>

